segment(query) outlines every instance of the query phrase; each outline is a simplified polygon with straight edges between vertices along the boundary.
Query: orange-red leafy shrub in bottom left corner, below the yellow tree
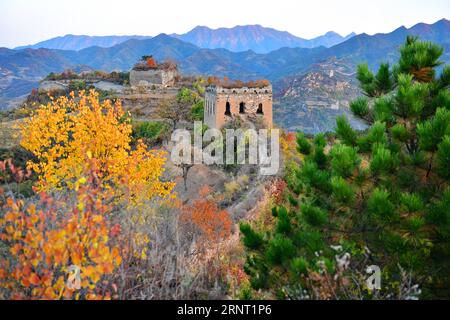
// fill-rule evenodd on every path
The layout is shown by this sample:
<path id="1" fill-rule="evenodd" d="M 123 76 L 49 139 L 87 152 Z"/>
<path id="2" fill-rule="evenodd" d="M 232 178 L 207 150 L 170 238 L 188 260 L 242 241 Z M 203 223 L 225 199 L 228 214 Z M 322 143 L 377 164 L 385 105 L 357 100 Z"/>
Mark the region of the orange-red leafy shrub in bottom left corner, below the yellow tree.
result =
<path id="1" fill-rule="evenodd" d="M 109 287 L 122 263 L 120 230 L 111 232 L 109 195 L 93 180 L 82 179 L 77 191 L 61 197 L 41 193 L 34 202 L 4 200 L 0 239 L 9 255 L 0 260 L 0 299 L 109 299 L 115 294 Z M 78 278 L 71 278 L 72 267 Z"/>

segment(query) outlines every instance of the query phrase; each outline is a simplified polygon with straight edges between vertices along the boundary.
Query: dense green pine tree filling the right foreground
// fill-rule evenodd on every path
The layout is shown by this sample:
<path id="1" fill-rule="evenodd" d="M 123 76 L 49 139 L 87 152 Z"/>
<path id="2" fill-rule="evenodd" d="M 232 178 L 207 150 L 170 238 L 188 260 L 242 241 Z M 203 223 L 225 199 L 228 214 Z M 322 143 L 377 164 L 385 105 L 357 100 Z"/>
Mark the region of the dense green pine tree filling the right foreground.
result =
<path id="1" fill-rule="evenodd" d="M 406 270 L 422 298 L 448 298 L 450 67 L 442 54 L 408 37 L 392 68 L 381 64 L 374 74 L 358 67 L 364 97 L 351 110 L 367 130 L 340 117 L 336 139 L 297 136 L 305 158 L 286 179 L 289 201 L 273 210 L 275 225 L 265 233 L 242 228 L 255 289 L 287 298 L 293 288 L 308 288 L 311 275 L 342 267 L 339 245 L 353 266 L 380 266 L 382 290 L 399 289 Z"/>

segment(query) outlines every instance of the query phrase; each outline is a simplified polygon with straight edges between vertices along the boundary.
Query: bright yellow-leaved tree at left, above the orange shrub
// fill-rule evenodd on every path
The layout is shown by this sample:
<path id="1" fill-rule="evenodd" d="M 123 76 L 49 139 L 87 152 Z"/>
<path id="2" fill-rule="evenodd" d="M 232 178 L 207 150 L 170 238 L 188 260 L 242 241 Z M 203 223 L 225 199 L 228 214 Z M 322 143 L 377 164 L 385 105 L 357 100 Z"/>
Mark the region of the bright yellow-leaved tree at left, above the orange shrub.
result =
<path id="1" fill-rule="evenodd" d="M 36 156 L 28 167 L 39 177 L 37 191 L 74 188 L 91 159 L 102 187 L 129 203 L 166 198 L 174 187 L 161 179 L 165 153 L 142 142 L 132 149 L 132 126 L 120 101 L 101 102 L 94 90 L 41 106 L 21 133 L 22 147 Z"/>

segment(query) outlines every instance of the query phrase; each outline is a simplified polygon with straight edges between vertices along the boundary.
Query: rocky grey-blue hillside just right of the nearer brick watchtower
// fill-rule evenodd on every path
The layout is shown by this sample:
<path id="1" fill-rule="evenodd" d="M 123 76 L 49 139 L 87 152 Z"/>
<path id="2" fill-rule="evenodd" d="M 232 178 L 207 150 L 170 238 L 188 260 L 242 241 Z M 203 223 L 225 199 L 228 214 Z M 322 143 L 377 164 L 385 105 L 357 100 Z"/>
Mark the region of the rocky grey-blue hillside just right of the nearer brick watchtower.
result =
<path id="1" fill-rule="evenodd" d="M 284 78 L 275 85 L 274 121 L 289 131 L 309 134 L 334 128 L 337 116 L 346 114 L 355 128 L 364 124 L 349 112 L 349 103 L 360 95 L 353 67 L 331 58 L 306 72 Z"/>

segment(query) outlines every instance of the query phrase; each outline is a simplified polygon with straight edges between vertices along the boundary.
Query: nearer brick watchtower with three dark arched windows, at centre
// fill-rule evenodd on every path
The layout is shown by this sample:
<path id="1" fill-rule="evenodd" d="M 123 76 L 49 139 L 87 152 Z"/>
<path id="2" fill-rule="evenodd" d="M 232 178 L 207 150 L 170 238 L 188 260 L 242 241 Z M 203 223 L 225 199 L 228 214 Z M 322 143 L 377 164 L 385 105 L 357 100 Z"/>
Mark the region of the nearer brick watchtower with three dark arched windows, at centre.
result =
<path id="1" fill-rule="evenodd" d="M 206 88 L 204 119 L 209 128 L 221 129 L 238 116 L 272 127 L 272 85 L 269 81 L 216 82 Z"/>

